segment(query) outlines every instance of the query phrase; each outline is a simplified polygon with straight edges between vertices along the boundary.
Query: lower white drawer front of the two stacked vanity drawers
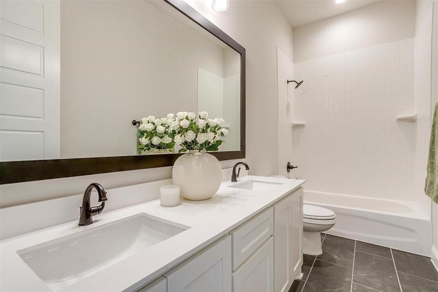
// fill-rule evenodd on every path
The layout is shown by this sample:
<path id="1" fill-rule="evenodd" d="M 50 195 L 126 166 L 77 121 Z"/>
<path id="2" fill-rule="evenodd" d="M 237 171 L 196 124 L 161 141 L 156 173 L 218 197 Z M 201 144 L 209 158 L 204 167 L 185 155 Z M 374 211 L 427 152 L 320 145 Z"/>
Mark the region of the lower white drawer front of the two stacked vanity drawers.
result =
<path id="1" fill-rule="evenodd" d="M 233 292 L 274 291 L 274 238 L 263 245 L 233 272 Z"/>

